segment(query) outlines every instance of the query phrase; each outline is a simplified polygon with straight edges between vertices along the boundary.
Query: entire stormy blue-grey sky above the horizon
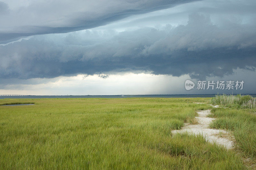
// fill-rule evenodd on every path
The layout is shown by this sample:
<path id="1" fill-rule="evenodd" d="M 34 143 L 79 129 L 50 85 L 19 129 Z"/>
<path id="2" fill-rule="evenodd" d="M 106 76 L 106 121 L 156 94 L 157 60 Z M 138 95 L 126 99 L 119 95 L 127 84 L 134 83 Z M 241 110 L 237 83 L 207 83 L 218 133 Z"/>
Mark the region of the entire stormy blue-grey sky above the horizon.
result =
<path id="1" fill-rule="evenodd" d="M 0 94 L 256 93 L 255 9 L 255 0 L 0 0 Z M 197 90 L 200 80 L 244 86 Z"/>

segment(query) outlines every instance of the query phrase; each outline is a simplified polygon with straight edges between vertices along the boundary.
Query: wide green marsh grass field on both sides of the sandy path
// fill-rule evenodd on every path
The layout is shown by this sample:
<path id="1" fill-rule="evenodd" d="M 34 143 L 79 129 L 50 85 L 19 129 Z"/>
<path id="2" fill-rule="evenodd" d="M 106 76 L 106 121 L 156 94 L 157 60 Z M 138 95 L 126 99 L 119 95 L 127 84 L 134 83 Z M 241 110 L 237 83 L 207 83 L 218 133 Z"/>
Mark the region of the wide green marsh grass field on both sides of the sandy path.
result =
<path id="1" fill-rule="evenodd" d="M 218 119 L 211 126 L 231 130 L 237 150 L 202 136 L 172 136 L 172 129 L 194 123 L 197 110 L 212 108 L 193 102 L 210 101 L 3 99 L 0 105 L 35 105 L 0 106 L 0 169 L 246 169 L 237 153 L 255 160 L 256 116 L 251 110 L 212 109 Z"/>

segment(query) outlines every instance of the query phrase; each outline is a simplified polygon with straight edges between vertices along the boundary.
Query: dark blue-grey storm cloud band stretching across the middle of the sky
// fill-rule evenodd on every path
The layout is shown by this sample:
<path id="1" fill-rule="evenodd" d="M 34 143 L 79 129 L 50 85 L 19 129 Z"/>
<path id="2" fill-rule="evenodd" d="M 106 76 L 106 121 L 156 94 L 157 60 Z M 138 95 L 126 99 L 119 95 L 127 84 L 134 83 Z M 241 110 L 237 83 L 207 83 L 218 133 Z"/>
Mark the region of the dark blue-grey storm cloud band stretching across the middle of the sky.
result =
<path id="1" fill-rule="evenodd" d="M 192 14 L 187 25 L 116 33 L 80 31 L 37 35 L 0 46 L 0 78 L 54 78 L 120 71 L 191 78 L 255 70 L 256 29 L 252 24 L 212 24 Z"/>

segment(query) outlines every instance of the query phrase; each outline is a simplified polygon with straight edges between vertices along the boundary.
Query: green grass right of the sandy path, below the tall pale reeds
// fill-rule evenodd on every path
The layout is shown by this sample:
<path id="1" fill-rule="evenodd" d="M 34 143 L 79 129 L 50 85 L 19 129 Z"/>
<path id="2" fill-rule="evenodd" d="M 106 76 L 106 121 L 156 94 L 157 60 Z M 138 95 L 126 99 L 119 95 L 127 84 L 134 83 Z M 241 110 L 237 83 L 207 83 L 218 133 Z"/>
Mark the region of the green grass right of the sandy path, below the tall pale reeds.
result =
<path id="1" fill-rule="evenodd" d="M 236 139 L 236 149 L 250 158 L 256 168 L 256 114 L 251 109 L 213 108 L 210 117 L 216 117 L 211 128 L 231 131 Z"/>

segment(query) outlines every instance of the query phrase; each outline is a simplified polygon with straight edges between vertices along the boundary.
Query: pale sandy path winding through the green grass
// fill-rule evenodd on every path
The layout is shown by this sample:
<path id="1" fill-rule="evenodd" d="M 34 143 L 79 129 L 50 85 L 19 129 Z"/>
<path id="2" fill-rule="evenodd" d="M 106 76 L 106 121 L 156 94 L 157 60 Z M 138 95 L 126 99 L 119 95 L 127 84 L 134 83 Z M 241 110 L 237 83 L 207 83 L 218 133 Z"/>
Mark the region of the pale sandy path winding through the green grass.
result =
<path id="1" fill-rule="evenodd" d="M 215 106 L 218 107 L 218 106 Z M 172 130 L 172 133 L 188 132 L 193 134 L 202 134 L 206 140 L 211 143 L 216 143 L 227 147 L 228 149 L 234 146 L 231 135 L 226 130 L 210 129 L 209 124 L 215 119 L 207 117 L 211 110 L 198 111 L 198 117 L 195 117 L 198 124 L 184 123 L 180 130 Z M 232 139 L 232 140 L 231 140 Z"/>

